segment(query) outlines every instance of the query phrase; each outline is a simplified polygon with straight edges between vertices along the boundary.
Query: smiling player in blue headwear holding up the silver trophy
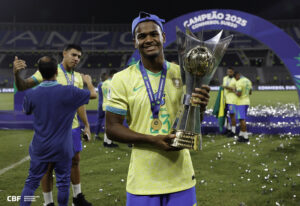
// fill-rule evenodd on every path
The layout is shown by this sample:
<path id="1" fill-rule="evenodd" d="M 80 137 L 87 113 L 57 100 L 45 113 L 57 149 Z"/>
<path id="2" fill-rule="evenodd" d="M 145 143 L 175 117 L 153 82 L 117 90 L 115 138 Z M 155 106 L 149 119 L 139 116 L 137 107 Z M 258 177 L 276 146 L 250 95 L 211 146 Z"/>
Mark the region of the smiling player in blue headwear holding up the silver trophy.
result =
<path id="1" fill-rule="evenodd" d="M 132 22 L 141 60 L 114 75 L 106 107 L 112 140 L 133 143 L 127 177 L 127 206 L 196 205 L 195 173 L 189 150 L 170 146 L 171 124 L 183 94 L 179 66 L 165 60 L 164 20 L 140 12 Z M 202 112 L 209 87 L 195 89 Z M 151 101 L 150 100 L 155 100 Z M 123 126 L 126 117 L 129 128 Z"/>

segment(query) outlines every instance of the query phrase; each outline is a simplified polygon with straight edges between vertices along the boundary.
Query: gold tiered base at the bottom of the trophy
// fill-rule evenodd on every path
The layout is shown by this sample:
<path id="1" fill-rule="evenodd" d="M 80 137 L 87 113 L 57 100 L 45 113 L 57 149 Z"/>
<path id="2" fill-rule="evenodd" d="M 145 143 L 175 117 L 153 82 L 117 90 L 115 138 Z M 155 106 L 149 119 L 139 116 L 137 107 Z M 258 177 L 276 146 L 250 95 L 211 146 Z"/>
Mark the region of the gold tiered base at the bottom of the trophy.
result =
<path id="1" fill-rule="evenodd" d="M 190 149 L 190 150 L 200 150 L 201 135 L 188 132 L 183 130 L 174 130 L 172 134 L 175 134 L 176 137 L 171 144 L 172 147 Z"/>

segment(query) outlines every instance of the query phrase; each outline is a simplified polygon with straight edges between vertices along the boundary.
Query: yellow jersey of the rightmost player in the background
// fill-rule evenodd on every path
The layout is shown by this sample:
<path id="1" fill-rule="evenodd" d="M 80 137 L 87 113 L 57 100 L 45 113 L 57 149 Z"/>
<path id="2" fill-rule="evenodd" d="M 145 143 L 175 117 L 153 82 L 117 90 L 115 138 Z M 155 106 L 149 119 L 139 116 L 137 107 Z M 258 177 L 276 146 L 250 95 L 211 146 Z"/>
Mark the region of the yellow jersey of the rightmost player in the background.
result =
<path id="1" fill-rule="evenodd" d="M 251 89 L 252 82 L 244 76 L 236 82 L 236 90 L 242 93 L 241 96 L 237 98 L 237 105 L 250 105 L 249 93 Z"/>

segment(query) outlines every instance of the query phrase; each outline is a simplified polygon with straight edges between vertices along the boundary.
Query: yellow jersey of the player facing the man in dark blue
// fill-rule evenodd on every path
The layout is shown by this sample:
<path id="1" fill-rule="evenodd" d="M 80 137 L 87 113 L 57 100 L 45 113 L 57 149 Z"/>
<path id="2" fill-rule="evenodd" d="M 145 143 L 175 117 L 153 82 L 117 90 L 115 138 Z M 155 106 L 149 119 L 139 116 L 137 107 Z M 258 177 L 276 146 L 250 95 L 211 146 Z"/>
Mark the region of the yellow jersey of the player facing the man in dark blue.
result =
<path id="1" fill-rule="evenodd" d="M 67 75 L 68 75 L 68 78 L 71 80 L 72 74 L 70 72 L 67 72 Z M 41 83 L 43 81 L 43 77 L 42 77 L 42 75 L 39 71 L 36 71 L 31 76 L 31 78 L 33 78 L 34 81 L 37 82 L 37 83 Z M 58 66 L 57 66 L 57 77 L 56 77 L 56 79 L 57 79 L 57 82 L 59 84 L 68 85 L 68 81 L 66 79 L 66 76 L 65 76 L 63 70 L 60 68 L 60 64 L 58 64 Z M 80 89 L 83 89 L 83 80 L 82 80 L 82 77 L 81 77 L 80 73 L 78 73 L 78 72 L 74 72 L 74 86 L 78 87 Z M 77 113 L 76 113 L 75 116 L 74 116 L 74 119 L 73 119 L 72 129 L 77 128 L 79 126 L 80 125 L 79 125 L 78 118 L 77 118 Z"/>

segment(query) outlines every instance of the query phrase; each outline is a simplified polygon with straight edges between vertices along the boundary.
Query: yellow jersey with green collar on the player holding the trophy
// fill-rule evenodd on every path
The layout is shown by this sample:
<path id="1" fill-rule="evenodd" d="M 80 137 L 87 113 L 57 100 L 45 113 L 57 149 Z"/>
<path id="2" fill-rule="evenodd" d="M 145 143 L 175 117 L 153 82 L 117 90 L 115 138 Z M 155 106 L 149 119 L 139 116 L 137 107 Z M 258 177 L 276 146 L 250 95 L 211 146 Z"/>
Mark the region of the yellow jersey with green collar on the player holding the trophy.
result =
<path id="1" fill-rule="evenodd" d="M 154 95 L 160 73 L 147 70 Z M 106 111 L 126 115 L 129 128 L 149 135 L 167 135 L 183 94 L 179 66 L 167 62 L 167 77 L 159 111 L 160 130 L 151 128 L 150 100 L 139 69 L 139 62 L 118 72 L 112 79 L 111 99 Z M 136 195 L 154 195 L 182 191 L 196 184 L 189 150 L 167 152 L 149 144 L 132 149 L 126 190 Z"/>

